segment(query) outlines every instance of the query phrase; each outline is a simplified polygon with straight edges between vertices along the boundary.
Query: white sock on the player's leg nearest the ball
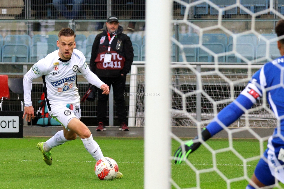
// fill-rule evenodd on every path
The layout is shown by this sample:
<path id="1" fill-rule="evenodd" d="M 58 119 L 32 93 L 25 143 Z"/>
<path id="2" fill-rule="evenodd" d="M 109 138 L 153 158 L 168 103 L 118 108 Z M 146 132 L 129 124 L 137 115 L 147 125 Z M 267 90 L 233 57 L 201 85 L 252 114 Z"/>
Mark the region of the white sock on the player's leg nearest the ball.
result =
<path id="1" fill-rule="evenodd" d="M 89 138 L 81 138 L 86 150 L 98 161 L 100 158 L 103 158 L 102 150 L 100 149 L 97 142 L 93 139 L 93 135 Z"/>

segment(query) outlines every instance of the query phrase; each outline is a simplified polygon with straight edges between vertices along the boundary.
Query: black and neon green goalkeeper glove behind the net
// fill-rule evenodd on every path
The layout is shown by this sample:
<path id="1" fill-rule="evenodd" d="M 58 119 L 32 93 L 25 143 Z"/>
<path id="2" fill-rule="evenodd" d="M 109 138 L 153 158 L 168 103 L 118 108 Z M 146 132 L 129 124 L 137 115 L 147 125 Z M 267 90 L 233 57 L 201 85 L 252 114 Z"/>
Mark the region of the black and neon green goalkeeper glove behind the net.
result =
<path id="1" fill-rule="evenodd" d="M 193 140 L 197 139 L 195 137 Z M 184 153 L 182 151 L 182 146 L 180 146 L 174 154 L 174 159 L 175 159 L 175 164 L 181 164 L 182 161 L 184 161 L 189 154 L 194 152 L 198 147 L 200 147 L 201 143 L 200 142 L 193 142 L 193 140 L 189 140 L 184 144 Z"/>

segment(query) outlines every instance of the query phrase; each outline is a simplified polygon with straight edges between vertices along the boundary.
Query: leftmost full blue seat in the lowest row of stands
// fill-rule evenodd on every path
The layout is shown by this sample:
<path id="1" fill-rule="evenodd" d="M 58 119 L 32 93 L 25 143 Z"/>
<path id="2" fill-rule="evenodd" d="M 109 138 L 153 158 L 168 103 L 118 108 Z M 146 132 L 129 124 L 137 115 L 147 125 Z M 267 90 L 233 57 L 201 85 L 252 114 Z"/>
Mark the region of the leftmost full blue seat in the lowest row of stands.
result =
<path id="1" fill-rule="evenodd" d="M 25 44 L 5 44 L 2 62 L 29 62 L 29 47 Z"/>

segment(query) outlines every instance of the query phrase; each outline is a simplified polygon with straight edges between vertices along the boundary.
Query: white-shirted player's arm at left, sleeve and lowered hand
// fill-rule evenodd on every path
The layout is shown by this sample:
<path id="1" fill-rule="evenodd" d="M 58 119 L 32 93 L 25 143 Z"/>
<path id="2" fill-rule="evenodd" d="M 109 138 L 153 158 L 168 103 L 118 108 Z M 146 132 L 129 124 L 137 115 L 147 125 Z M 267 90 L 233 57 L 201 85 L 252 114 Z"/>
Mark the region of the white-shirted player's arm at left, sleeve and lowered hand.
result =
<path id="1" fill-rule="evenodd" d="M 33 79 L 36 79 L 42 75 L 45 75 L 46 73 L 46 67 L 44 65 L 44 59 L 39 60 L 36 64 L 31 67 L 31 69 L 25 74 L 23 79 L 24 84 L 24 115 L 23 119 L 26 116 L 26 121 L 31 121 L 31 119 L 34 119 L 34 108 L 32 106 L 31 101 L 31 89 L 32 89 L 32 83 Z"/>

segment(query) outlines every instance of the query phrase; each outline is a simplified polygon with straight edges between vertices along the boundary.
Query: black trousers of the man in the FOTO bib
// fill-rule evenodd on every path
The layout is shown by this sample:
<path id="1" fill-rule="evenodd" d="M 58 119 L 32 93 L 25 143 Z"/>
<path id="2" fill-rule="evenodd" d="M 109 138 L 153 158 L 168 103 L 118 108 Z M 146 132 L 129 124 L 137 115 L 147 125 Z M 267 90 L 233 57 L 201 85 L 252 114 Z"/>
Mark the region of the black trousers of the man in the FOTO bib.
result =
<path id="1" fill-rule="evenodd" d="M 124 90 L 125 90 L 125 79 L 126 76 L 119 77 L 99 77 L 102 82 L 109 85 L 109 87 L 113 87 L 113 99 L 116 104 L 116 115 L 118 116 L 119 123 L 125 122 L 127 124 L 126 119 L 126 107 L 124 100 Z M 106 111 L 107 111 L 107 100 L 109 99 L 109 95 L 103 95 L 102 90 L 98 90 L 98 122 L 103 122 L 104 125 L 108 123 L 108 119 L 106 119 Z"/>

